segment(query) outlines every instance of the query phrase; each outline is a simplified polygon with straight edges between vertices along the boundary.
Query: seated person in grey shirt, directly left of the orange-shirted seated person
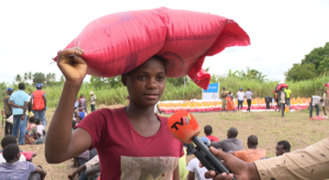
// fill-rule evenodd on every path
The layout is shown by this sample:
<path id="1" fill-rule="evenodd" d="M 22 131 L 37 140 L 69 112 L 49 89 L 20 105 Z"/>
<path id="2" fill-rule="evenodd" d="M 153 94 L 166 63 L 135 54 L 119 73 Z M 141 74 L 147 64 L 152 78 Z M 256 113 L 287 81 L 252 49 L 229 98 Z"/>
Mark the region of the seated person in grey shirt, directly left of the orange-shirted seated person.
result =
<path id="1" fill-rule="evenodd" d="M 212 142 L 211 145 L 217 149 L 222 148 L 225 153 L 242 150 L 242 142 L 238 139 L 237 136 L 238 130 L 236 127 L 230 127 L 227 131 L 227 138 L 220 142 Z"/>

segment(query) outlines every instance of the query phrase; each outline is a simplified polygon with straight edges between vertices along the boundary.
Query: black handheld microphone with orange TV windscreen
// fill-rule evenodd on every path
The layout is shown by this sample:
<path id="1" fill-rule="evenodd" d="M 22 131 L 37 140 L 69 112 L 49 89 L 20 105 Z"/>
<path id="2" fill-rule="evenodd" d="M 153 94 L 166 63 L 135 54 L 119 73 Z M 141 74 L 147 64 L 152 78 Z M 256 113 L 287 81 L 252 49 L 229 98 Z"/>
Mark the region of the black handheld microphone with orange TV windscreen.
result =
<path id="1" fill-rule="evenodd" d="M 229 175 L 229 170 L 222 164 L 220 159 L 215 157 L 197 137 L 200 134 L 198 123 L 191 113 L 183 110 L 175 112 L 169 117 L 168 127 L 170 133 L 179 140 L 185 144 L 193 142 L 196 145 L 192 153 L 207 170 L 214 170 L 216 176 L 223 172 Z"/>

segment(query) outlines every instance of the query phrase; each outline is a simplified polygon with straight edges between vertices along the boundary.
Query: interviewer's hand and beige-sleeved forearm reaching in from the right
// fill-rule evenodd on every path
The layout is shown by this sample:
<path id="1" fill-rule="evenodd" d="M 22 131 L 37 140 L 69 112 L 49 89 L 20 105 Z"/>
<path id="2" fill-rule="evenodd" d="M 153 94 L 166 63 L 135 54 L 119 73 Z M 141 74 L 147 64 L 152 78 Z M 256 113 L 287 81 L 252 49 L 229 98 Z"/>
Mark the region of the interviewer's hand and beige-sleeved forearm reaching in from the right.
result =
<path id="1" fill-rule="evenodd" d="M 205 172 L 206 178 L 214 180 L 318 180 L 329 179 L 329 138 L 307 146 L 304 149 L 283 154 L 282 156 L 245 162 L 237 157 L 217 150 L 211 151 L 230 170 L 230 175 L 214 171 Z"/>

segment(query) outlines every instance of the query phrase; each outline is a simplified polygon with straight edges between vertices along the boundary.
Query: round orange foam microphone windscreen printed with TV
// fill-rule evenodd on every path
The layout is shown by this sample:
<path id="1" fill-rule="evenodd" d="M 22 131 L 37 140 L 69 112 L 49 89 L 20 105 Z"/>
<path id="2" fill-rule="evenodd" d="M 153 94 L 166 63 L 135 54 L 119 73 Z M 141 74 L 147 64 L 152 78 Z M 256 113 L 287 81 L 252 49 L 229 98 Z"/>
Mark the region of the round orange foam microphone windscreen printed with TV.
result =
<path id="1" fill-rule="evenodd" d="M 198 123 L 195 117 L 183 110 L 172 114 L 168 120 L 171 134 L 179 140 L 190 144 L 191 138 L 200 134 Z"/>

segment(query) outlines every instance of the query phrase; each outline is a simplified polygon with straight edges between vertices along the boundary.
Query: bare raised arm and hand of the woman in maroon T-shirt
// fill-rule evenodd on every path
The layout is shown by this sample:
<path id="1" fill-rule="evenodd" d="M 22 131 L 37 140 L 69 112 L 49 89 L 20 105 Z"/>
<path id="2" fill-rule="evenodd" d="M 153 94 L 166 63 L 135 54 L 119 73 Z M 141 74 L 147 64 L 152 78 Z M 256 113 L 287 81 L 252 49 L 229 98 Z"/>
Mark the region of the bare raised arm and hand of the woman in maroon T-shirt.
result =
<path id="1" fill-rule="evenodd" d="M 77 128 L 71 133 L 72 106 L 87 74 L 87 64 L 80 57 L 82 54 L 79 47 L 58 54 L 57 65 L 66 77 L 66 82 L 47 132 L 45 156 L 49 164 L 59 164 L 77 157 L 92 145 L 91 136 L 86 130 Z"/>

